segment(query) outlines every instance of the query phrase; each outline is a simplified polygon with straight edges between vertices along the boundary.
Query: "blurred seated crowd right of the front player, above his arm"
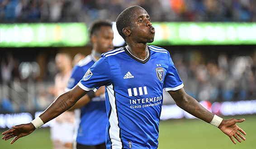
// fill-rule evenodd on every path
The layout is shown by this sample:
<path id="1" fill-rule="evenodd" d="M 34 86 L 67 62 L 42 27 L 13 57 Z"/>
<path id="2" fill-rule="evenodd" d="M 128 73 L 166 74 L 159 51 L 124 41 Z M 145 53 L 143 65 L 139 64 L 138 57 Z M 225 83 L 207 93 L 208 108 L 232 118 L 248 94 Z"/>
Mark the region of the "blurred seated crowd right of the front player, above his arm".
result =
<path id="1" fill-rule="evenodd" d="M 184 82 L 185 91 L 198 101 L 223 102 L 254 100 L 256 98 L 256 51 L 251 56 L 228 56 L 225 52 L 217 60 L 194 52 L 184 60 L 183 53 L 172 59 Z"/>

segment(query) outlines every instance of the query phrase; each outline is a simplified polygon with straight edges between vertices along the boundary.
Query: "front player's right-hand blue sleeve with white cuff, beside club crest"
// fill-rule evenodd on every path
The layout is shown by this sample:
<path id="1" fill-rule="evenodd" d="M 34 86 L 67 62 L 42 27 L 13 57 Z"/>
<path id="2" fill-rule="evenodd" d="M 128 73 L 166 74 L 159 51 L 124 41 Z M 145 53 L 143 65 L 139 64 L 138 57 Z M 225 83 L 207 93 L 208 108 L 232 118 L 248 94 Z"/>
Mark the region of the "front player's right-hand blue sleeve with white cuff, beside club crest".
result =
<path id="1" fill-rule="evenodd" d="M 174 66 L 173 61 L 171 60 L 170 54 L 168 55 L 169 67 L 166 73 L 166 78 L 164 80 L 164 90 L 165 91 L 175 91 L 180 88 L 183 88 L 183 82 L 180 79 L 180 76 Z"/>

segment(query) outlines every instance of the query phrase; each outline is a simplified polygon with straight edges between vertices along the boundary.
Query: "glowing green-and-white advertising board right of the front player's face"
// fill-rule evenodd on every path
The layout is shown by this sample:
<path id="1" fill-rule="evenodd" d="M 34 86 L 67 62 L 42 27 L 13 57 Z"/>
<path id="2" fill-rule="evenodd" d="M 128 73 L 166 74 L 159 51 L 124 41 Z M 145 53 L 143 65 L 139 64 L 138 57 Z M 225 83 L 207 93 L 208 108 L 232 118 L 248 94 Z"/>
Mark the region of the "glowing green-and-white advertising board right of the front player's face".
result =
<path id="1" fill-rule="evenodd" d="M 154 22 L 153 45 L 256 44 L 256 23 Z"/>

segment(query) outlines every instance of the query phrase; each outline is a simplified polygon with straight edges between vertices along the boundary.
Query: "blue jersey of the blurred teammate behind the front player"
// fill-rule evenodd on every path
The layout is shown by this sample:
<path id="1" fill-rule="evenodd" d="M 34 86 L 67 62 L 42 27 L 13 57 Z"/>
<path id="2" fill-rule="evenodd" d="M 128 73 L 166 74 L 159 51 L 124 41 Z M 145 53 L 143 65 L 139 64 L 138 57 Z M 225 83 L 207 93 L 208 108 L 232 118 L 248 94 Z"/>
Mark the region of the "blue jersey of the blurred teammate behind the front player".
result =
<path id="1" fill-rule="evenodd" d="M 79 61 L 73 68 L 72 76 L 69 79 L 66 90 L 76 86 L 95 61 L 97 60 L 92 54 Z M 109 121 L 106 113 L 105 96 L 92 98 L 89 103 L 81 107 L 80 112 L 81 114 L 78 116 L 80 119 L 76 120 L 76 122 L 80 122 L 75 133 L 77 134 L 76 142 L 83 145 L 99 145 L 105 143 L 105 130 Z"/>

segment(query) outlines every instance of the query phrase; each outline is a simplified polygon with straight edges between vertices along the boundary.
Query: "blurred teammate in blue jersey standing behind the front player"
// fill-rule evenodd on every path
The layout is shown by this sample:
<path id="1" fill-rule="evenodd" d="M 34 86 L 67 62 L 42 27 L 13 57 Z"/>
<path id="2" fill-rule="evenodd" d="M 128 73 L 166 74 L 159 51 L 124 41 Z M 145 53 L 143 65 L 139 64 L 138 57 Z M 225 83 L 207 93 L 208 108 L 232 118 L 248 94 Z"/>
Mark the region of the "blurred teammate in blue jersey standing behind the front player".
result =
<path id="1" fill-rule="evenodd" d="M 114 49 L 113 38 L 112 23 L 100 20 L 91 25 L 92 52 L 76 64 L 66 91 L 76 86 L 86 71 L 100 59 L 102 53 Z M 74 149 L 106 149 L 105 130 L 109 120 L 104 93 L 104 87 L 100 87 L 96 92 L 90 91 L 69 109 L 80 108 L 75 110 L 75 123 L 78 123 L 79 126 L 75 126 L 78 128 L 74 133 L 74 140 L 76 140 L 73 144 Z"/>

